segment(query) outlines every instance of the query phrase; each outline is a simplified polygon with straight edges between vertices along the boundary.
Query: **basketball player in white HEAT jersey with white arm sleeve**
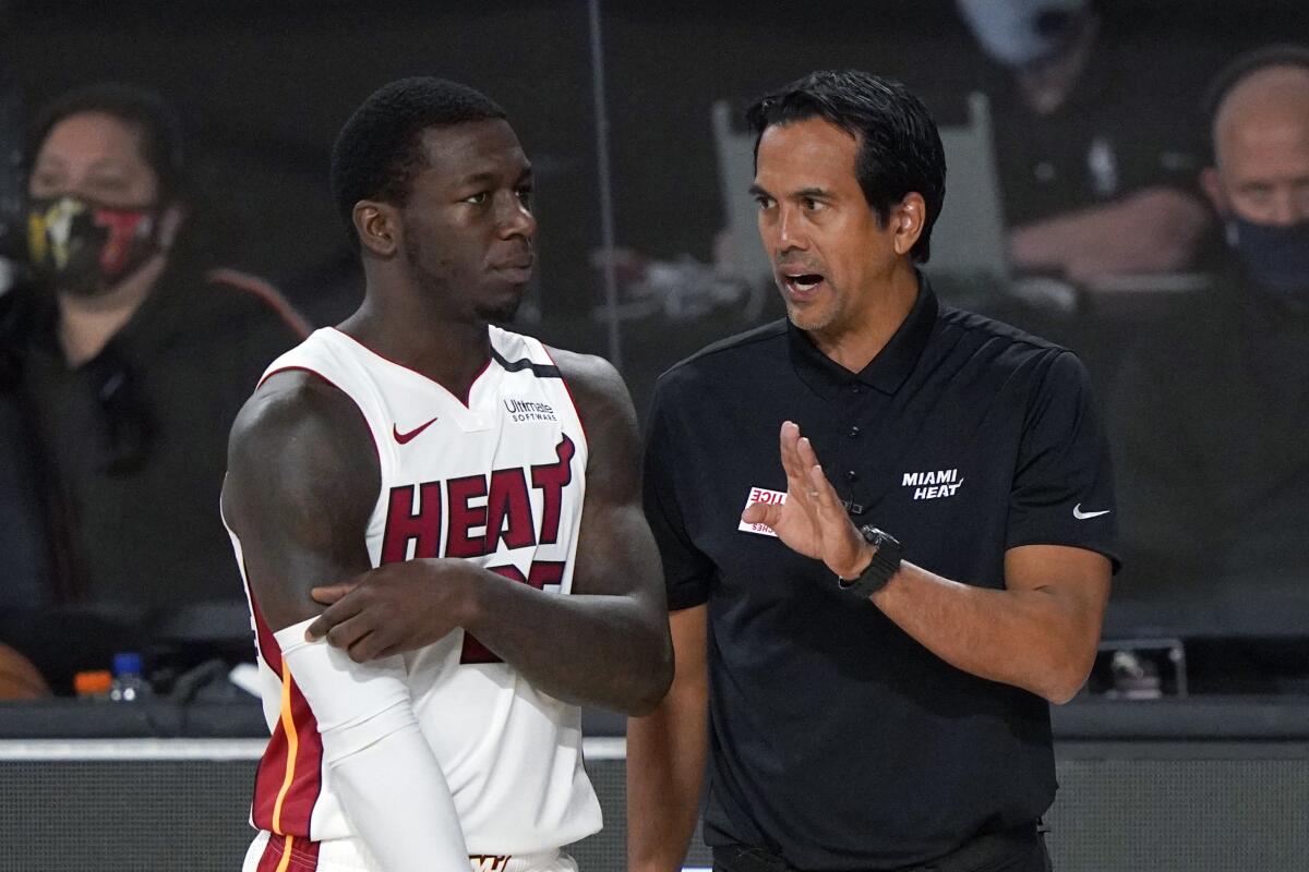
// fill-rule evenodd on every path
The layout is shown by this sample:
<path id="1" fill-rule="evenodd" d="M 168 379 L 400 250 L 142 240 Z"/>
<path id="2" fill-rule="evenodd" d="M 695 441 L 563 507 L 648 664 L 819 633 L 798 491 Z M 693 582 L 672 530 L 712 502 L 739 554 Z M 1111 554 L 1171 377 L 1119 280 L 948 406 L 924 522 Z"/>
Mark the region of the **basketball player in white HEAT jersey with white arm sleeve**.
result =
<path id="1" fill-rule="evenodd" d="M 223 495 L 272 731 L 245 869 L 576 869 L 559 848 L 601 826 L 577 703 L 649 711 L 672 680 L 631 401 L 492 326 L 537 224 L 487 97 L 382 88 L 332 190 L 364 303 L 268 369 Z"/>

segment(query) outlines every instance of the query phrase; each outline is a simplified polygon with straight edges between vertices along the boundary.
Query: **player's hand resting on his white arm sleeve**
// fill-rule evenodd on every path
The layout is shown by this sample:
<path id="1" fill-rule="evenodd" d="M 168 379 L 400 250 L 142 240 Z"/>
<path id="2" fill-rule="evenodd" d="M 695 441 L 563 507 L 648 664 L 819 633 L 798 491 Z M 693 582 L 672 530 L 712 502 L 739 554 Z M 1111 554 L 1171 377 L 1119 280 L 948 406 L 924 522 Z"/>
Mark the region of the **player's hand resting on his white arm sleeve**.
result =
<path id="1" fill-rule="evenodd" d="M 471 616 L 469 569 L 467 561 L 410 560 L 315 587 L 312 596 L 327 608 L 305 638 L 326 635 L 356 663 L 431 645 Z"/>

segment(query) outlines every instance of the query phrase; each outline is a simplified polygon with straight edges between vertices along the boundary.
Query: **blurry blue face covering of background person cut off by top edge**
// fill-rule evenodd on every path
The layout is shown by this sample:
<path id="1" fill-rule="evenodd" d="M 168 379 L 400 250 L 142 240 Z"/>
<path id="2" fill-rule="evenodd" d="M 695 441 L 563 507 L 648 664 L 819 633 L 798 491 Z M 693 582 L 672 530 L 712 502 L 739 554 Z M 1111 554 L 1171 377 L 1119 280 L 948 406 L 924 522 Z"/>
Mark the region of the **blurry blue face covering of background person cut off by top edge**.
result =
<path id="1" fill-rule="evenodd" d="M 958 0 L 982 50 L 1007 67 L 1028 68 L 1072 42 L 1086 0 Z"/>

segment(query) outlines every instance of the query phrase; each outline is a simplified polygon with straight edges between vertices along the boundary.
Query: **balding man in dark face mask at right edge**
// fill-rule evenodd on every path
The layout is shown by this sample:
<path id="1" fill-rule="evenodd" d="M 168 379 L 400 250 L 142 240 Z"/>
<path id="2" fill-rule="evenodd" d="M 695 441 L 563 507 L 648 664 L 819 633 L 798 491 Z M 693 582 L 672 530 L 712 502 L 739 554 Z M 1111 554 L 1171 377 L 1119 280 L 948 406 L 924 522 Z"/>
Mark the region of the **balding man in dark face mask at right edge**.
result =
<path id="1" fill-rule="evenodd" d="M 1237 59 L 1210 107 L 1200 180 L 1227 244 L 1216 288 L 1124 360 L 1121 590 L 1258 622 L 1309 580 L 1309 47 Z"/>

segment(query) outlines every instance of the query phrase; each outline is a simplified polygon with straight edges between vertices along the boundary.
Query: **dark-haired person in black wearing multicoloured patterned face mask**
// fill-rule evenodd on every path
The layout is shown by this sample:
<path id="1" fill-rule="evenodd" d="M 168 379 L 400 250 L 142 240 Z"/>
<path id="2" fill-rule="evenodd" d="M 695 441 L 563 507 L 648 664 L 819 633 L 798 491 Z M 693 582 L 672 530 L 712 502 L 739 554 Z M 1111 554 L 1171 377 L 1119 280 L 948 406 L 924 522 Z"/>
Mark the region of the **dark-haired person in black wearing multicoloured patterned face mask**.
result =
<path id="1" fill-rule="evenodd" d="M 68 93 L 38 115 L 26 156 L 27 280 L 3 343 L 34 455 L 14 461 L 48 502 L 50 597 L 128 614 L 240 603 L 217 510 L 226 433 L 305 324 L 207 256 L 157 95 Z M 101 665 L 85 659 L 47 667 L 59 684 Z"/>

